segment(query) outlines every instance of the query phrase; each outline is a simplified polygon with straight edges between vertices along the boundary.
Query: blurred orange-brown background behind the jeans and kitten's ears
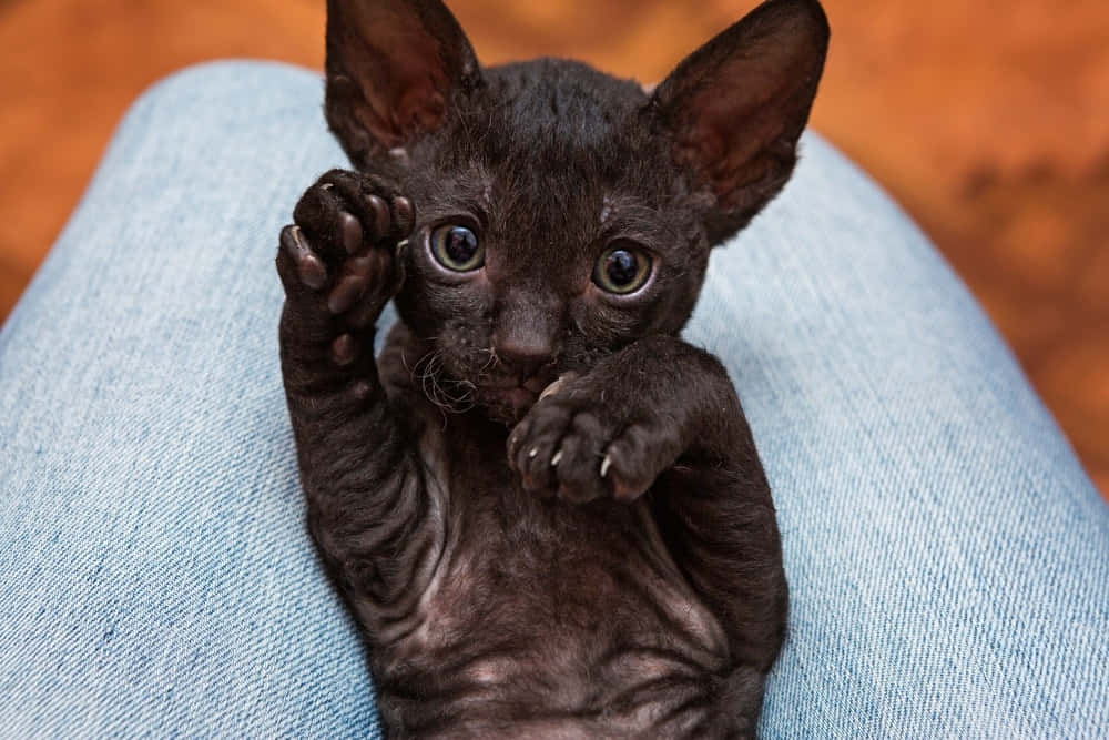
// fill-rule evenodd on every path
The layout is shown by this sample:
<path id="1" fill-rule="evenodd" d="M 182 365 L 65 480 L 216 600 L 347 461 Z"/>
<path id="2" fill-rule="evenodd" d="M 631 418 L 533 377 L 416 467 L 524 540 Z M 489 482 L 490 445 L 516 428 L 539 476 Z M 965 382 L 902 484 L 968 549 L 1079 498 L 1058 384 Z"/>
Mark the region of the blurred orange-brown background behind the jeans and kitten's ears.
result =
<path id="1" fill-rule="evenodd" d="M 824 3 L 813 126 L 935 240 L 1109 496 L 1109 3 Z M 485 63 L 655 81 L 756 3 L 448 4 Z M 0 318 L 143 88 L 225 57 L 321 69 L 323 30 L 324 0 L 0 0 Z"/>

